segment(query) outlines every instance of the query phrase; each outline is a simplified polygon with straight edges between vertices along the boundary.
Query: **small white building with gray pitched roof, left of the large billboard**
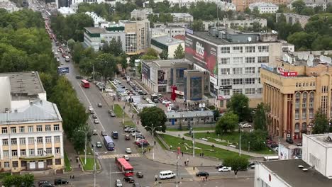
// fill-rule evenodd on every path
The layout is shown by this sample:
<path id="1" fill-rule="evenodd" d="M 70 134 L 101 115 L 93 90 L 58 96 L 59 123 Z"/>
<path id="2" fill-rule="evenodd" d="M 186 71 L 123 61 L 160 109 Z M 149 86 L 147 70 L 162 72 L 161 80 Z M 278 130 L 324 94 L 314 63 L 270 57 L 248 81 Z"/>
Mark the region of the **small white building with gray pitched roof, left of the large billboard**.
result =
<path id="1" fill-rule="evenodd" d="M 182 45 L 184 49 L 184 41 L 170 38 L 168 35 L 151 38 L 151 47 L 159 53 L 162 50 L 167 50 L 170 59 L 174 58 L 174 52 L 179 45 Z"/>

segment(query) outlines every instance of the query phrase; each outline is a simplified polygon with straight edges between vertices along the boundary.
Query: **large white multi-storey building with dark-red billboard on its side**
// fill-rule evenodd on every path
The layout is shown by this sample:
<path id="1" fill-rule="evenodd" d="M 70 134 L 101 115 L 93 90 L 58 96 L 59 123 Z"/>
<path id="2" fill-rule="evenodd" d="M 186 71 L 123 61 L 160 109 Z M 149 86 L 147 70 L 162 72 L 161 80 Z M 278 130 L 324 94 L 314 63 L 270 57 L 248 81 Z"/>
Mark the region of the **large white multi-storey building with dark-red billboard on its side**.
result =
<path id="1" fill-rule="evenodd" d="M 260 66 L 282 55 L 285 44 L 274 33 L 243 33 L 231 28 L 187 33 L 185 57 L 194 69 L 208 71 L 216 106 L 226 108 L 233 94 L 245 94 L 250 106 L 262 101 Z"/>

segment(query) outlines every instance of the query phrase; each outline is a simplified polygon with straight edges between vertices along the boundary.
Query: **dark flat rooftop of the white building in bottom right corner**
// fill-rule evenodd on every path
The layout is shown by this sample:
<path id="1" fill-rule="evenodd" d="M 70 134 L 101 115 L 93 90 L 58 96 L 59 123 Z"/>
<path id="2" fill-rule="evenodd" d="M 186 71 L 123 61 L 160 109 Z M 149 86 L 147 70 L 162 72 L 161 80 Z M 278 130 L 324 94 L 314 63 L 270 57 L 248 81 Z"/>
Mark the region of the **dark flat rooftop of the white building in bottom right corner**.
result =
<path id="1" fill-rule="evenodd" d="M 262 162 L 261 164 L 292 187 L 332 186 L 332 179 L 328 179 L 315 169 L 311 169 L 301 159 L 277 160 Z M 308 171 L 302 171 L 302 169 L 299 169 L 299 165 L 304 166 Z"/>

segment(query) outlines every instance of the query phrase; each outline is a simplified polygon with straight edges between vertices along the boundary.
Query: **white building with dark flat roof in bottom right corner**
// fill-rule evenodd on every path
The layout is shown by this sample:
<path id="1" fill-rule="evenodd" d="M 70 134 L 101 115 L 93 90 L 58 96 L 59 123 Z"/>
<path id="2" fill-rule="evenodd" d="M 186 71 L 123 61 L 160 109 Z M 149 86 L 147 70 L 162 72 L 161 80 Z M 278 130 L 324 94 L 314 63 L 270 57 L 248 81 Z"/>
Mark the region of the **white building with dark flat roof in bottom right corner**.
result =
<path id="1" fill-rule="evenodd" d="M 303 135 L 302 159 L 255 165 L 255 187 L 332 186 L 332 134 Z"/>

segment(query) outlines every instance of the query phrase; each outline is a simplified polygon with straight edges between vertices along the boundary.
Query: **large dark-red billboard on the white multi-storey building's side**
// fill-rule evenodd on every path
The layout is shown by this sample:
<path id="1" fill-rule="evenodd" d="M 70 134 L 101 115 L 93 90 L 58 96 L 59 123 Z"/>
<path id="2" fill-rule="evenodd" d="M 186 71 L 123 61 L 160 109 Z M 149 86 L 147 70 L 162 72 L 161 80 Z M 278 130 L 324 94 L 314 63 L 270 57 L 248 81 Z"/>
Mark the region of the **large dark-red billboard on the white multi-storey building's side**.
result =
<path id="1" fill-rule="evenodd" d="M 191 35 L 186 35 L 185 45 L 186 59 L 209 71 L 212 77 L 217 77 L 217 46 Z"/>

